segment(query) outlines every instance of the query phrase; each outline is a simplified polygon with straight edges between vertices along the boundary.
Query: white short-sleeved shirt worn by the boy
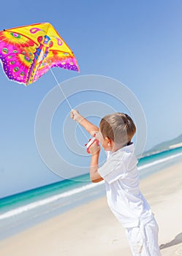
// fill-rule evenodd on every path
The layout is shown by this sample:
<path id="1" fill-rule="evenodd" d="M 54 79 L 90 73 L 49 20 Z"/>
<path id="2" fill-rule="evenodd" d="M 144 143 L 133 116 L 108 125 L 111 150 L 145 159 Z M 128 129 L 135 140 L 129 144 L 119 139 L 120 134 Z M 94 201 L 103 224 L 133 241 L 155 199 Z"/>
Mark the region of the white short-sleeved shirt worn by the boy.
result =
<path id="1" fill-rule="evenodd" d="M 140 192 L 133 143 L 109 154 L 98 172 L 105 180 L 107 203 L 124 227 L 137 227 L 140 221 L 146 223 L 153 218 L 151 208 Z"/>

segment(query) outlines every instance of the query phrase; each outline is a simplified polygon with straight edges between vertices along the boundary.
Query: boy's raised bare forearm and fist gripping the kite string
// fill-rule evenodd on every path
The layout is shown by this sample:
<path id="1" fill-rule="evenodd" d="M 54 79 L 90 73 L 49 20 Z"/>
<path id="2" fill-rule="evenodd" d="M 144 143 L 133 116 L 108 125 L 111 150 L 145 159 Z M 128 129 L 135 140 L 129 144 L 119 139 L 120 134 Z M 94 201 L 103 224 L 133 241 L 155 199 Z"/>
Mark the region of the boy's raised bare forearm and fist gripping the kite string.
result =
<path id="1" fill-rule="evenodd" d="M 83 128 L 85 128 L 91 136 L 93 136 L 95 132 L 99 131 L 99 128 L 96 127 L 96 125 L 92 124 L 86 118 L 81 116 L 77 110 L 72 110 L 70 116 L 73 120 L 77 121 L 77 123 L 79 123 Z"/>

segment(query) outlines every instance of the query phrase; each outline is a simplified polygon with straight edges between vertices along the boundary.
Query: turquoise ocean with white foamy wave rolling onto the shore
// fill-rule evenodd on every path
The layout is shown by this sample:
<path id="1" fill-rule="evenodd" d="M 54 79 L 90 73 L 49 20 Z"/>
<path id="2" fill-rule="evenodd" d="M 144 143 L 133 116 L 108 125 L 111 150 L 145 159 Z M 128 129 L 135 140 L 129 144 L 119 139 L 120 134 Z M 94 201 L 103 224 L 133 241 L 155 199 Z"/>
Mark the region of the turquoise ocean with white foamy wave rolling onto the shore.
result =
<path id="1" fill-rule="evenodd" d="M 182 162 L 182 147 L 140 159 L 140 179 Z M 93 184 L 89 175 L 75 177 L 0 199 L 0 239 L 105 195 L 104 181 Z"/>

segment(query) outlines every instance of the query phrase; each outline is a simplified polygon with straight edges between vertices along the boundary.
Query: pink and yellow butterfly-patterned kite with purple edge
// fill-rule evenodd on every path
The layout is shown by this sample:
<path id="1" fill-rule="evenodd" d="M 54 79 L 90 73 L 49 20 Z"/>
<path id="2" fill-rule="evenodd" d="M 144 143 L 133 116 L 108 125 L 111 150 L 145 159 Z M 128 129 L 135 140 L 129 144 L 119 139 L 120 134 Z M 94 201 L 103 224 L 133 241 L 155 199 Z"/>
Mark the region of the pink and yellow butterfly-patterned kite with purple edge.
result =
<path id="1" fill-rule="evenodd" d="M 79 71 L 72 50 L 50 23 L 0 31 L 0 59 L 7 77 L 25 85 L 51 67 Z"/>

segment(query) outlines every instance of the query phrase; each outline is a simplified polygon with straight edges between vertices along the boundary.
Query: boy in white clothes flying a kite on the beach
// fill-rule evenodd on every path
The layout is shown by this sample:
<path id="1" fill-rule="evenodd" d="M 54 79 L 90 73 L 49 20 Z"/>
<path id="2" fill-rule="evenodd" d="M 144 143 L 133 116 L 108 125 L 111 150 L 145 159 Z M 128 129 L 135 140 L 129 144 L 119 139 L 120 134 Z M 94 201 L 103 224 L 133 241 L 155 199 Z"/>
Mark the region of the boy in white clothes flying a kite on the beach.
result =
<path id="1" fill-rule="evenodd" d="M 126 228 L 126 236 L 134 256 L 160 256 L 158 225 L 148 202 L 139 188 L 137 158 L 134 157 L 132 137 L 136 127 L 124 113 L 102 118 L 99 128 L 72 110 L 70 116 L 83 126 L 108 151 L 107 161 L 99 167 L 100 148 L 96 143 L 91 152 L 91 181 L 105 180 L 107 203 L 118 221 Z"/>

